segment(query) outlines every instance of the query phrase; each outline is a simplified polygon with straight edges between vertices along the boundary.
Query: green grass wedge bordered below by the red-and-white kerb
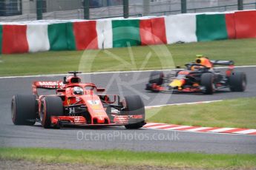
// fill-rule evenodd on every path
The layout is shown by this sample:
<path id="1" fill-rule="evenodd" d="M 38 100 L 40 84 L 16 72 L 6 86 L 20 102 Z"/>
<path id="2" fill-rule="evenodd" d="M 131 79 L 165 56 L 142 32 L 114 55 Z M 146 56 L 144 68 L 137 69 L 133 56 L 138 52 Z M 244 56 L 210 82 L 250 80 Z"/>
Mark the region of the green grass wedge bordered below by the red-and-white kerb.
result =
<path id="1" fill-rule="evenodd" d="M 256 98 L 147 109 L 150 122 L 256 129 Z M 157 112 L 156 115 L 154 115 Z"/>

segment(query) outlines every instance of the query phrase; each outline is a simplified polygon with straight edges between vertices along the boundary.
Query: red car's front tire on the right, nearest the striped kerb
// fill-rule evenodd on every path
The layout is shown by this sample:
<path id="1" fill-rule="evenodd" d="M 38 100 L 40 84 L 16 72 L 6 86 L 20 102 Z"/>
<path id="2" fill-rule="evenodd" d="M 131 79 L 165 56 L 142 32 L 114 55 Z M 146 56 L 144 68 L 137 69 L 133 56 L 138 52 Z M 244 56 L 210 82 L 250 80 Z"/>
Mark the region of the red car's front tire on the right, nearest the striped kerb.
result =
<path id="1" fill-rule="evenodd" d="M 126 129 L 139 129 L 145 125 L 145 106 L 139 95 L 125 97 L 125 112 L 127 115 L 142 115 L 142 118 L 125 125 Z"/>

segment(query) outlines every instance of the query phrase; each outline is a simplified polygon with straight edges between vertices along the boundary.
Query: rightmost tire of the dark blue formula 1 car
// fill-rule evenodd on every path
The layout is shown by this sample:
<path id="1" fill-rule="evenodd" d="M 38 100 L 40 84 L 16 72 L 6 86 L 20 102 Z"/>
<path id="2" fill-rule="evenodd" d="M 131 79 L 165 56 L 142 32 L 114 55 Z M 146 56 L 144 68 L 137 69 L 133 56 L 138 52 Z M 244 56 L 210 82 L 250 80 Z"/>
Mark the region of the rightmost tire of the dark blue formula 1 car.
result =
<path id="1" fill-rule="evenodd" d="M 243 92 L 246 90 L 246 74 L 244 72 L 232 72 L 229 77 L 229 89 L 232 92 Z"/>

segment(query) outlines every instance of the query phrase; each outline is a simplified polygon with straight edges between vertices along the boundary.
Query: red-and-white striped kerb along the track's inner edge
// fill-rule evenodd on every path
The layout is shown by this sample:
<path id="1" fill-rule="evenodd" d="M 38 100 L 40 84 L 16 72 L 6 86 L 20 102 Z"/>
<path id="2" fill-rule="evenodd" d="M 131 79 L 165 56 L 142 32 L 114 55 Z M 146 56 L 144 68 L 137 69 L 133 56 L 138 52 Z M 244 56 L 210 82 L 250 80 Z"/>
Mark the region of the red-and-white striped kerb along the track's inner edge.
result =
<path id="1" fill-rule="evenodd" d="M 143 128 L 157 129 L 157 130 L 174 130 L 174 131 L 184 131 L 184 132 L 211 132 L 211 133 L 226 133 L 226 134 L 240 134 L 240 135 L 256 135 L 256 129 L 183 126 L 183 125 L 167 124 L 167 123 L 146 123 L 145 126 L 143 126 Z"/>

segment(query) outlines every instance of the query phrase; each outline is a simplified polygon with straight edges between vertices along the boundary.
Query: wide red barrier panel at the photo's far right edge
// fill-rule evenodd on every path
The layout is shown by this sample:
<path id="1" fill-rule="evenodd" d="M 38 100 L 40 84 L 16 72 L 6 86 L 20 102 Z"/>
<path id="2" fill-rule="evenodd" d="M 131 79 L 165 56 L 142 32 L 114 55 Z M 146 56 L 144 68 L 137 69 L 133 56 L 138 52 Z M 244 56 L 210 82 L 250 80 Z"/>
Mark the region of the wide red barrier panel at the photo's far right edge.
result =
<path id="1" fill-rule="evenodd" d="M 236 38 L 256 38 L 256 10 L 234 13 Z"/>

